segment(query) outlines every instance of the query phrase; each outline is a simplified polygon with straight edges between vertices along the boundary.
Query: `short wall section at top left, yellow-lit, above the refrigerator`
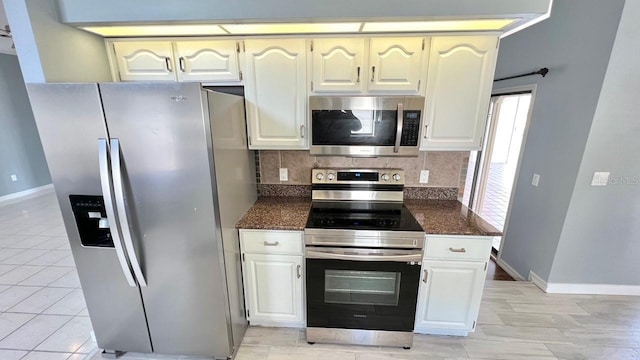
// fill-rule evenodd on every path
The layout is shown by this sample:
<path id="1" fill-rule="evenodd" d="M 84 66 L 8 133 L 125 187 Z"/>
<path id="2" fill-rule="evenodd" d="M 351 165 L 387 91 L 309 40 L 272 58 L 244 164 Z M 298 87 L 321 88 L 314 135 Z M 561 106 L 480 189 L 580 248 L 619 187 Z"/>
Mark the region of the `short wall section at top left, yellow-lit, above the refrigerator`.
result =
<path id="1" fill-rule="evenodd" d="M 104 40 L 61 24 L 57 1 L 4 3 L 26 83 L 111 81 Z"/>

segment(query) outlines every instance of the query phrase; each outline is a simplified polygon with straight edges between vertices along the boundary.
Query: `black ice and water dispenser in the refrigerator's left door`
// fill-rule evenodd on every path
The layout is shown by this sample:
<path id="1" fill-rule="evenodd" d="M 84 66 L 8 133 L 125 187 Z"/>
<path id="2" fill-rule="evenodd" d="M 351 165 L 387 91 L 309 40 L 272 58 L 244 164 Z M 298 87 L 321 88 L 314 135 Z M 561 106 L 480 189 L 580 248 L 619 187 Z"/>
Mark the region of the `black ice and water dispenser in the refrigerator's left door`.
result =
<path id="1" fill-rule="evenodd" d="M 102 196 L 69 195 L 82 246 L 113 247 Z"/>

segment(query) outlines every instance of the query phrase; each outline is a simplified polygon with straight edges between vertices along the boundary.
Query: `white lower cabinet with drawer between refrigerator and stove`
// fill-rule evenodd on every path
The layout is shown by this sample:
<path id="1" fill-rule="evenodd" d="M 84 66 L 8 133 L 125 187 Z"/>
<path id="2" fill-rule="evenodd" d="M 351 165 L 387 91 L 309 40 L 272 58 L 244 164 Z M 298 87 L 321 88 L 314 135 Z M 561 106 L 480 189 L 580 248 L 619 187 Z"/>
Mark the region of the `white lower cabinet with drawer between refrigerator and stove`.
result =
<path id="1" fill-rule="evenodd" d="M 240 230 L 251 325 L 304 327 L 302 232 Z"/>

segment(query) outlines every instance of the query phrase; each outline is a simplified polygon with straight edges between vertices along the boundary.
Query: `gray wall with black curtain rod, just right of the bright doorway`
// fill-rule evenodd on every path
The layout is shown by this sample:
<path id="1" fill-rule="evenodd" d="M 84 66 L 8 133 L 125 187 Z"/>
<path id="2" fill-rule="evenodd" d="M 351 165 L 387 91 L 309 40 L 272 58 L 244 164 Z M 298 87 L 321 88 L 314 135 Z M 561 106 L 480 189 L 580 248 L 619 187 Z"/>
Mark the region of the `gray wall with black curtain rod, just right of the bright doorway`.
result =
<path id="1" fill-rule="evenodd" d="M 496 78 L 548 67 L 542 78 L 501 81 L 494 88 L 537 84 L 501 258 L 520 275 L 548 279 L 569 207 L 623 0 L 556 0 L 551 17 L 502 40 Z M 531 185 L 540 174 L 538 187 Z"/>

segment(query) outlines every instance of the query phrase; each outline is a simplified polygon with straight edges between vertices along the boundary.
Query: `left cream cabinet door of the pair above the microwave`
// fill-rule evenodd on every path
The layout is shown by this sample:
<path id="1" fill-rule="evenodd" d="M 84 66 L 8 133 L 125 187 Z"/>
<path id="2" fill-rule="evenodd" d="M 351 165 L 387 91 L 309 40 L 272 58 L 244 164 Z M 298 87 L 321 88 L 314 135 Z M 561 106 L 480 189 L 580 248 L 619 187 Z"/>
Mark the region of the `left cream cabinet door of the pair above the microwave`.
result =
<path id="1" fill-rule="evenodd" d="M 360 93 L 364 91 L 365 39 L 313 40 L 312 91 Z"/>

